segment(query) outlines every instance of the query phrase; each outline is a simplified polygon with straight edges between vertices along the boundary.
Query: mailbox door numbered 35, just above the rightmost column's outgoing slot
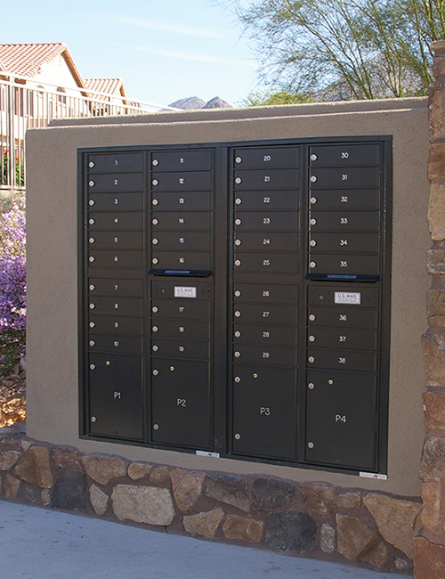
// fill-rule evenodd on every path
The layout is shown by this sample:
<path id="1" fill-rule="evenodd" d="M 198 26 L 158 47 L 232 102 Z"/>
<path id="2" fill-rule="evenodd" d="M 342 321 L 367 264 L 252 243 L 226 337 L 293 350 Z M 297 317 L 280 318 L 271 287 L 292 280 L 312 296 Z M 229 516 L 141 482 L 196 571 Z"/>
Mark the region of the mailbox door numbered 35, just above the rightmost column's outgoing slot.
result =
<path id="1" fill-rule="evenodd" d="M 317 253 L 309 257 L 309 273 L 378 275 L 378 256 Z"/>

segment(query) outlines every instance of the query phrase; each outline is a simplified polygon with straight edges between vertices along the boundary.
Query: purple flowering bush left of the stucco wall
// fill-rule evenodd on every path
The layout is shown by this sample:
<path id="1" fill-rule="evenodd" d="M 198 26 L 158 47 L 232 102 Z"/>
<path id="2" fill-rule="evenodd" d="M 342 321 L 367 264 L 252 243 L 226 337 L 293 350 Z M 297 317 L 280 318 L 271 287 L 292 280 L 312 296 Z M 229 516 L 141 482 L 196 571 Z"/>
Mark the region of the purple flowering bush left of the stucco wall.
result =
<path id="1" fill-rule="evenodd" d="M 0 215 L 0 375 L 20 362 L 26 344 L 25 198 Z"/>

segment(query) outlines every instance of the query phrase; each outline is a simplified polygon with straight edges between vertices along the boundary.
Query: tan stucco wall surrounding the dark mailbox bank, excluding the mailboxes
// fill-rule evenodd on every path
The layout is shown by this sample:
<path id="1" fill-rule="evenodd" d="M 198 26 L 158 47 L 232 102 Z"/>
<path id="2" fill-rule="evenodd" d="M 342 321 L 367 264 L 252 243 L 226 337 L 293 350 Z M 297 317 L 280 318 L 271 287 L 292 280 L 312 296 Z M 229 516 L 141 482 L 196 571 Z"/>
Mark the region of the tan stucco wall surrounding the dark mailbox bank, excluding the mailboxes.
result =
<path id="1" fill-rule="evenodd" d="M 263 473 L 295 481 L 324 481 L 417 496 L 418 461 L 425 435 L 420 412 L 425 377 L 418 337 L 425 331 L 425 290 L 429 282 L 425 273 L 428 121 L 426 107 L 419 106 L 425 100 L 407 100 L 406 108 L 402 108 L 402 103 L 399 100 L 394 110 L 368 110 L 365 103 L 363 110 L 355 104 L 350 112 L 339 108 L 338 112 L 319 114 L 312 114 L 314 109 L 307 105 L 274 107 L 270 118 L 227 118 L 236 117 L 232 111 L 232 115 L 223 112 L 223 120 L 193 122 L 169 122 L 167 115 L 162 119 L 153 115 L 144 118 L 143 123 L 53 126 L 29 131 L 28 436 L 75 446 L 85 453 L 115 453 L 131 460 L 192 469 Z M 212 118 L 218 115 L 214 113 Z M 393 135 L 388 480 L 79 439 L 77 148 L 348 135 Z"/>

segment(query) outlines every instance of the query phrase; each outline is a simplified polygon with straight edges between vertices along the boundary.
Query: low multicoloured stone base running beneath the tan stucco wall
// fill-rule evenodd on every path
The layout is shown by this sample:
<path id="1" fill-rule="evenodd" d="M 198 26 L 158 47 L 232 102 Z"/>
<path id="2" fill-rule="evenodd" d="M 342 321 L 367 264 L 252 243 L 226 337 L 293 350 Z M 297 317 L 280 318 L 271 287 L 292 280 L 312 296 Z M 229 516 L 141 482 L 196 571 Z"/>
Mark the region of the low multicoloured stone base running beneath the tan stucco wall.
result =
<path id="1" fill-rule="evenodd" d="M 412 572 L 421 503 L 261 474 L 83 454 L 0 431 L 0 496 L 289 555 Z"/>

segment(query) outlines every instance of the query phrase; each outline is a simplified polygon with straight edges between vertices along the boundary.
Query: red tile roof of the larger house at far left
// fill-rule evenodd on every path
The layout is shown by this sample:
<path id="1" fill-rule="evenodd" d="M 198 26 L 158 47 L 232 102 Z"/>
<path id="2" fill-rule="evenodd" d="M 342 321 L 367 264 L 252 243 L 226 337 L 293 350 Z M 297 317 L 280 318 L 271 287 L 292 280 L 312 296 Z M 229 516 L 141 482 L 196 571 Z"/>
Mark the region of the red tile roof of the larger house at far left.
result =
<path id="1" fill-rule="evenodd" d="M 77 70 L 68 48 L 63 43 L 36 45 L 0 45 L 0 66 L 4 71 L 20 77 L 35 77 L 44 64 L 61 54 L 71 74 L 77 81 L 77 86 L 84 87 L 82 77 Z"/>

